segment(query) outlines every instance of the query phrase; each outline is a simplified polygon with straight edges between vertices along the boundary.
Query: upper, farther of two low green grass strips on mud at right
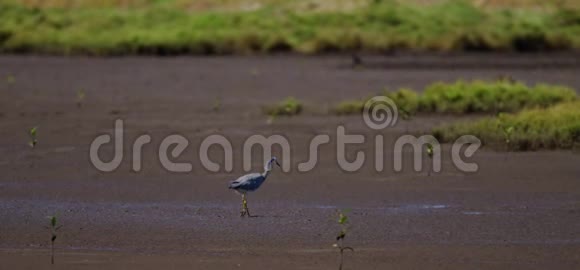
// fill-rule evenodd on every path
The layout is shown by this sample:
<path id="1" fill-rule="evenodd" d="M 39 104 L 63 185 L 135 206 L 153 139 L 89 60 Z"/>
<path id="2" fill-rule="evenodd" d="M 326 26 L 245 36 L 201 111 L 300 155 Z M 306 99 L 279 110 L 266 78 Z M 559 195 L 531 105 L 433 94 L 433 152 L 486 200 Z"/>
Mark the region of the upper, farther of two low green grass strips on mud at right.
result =
<path id="1" fill-rule="evenodd" d="M 521 82 L 499 80 L 438 82 L 426 87 L 422 95 L 408 89 L 385 91 L 397 108 L 407 114 L 421 113 L 499 113 L 526 108 L 545 108 L 575 101 L 576 92 L 568 87 L 537 84 L 528 87 Z M 336 105 L 336 114 L 354 114 L 363 110 L 365 100 L 344 101 Z"/>

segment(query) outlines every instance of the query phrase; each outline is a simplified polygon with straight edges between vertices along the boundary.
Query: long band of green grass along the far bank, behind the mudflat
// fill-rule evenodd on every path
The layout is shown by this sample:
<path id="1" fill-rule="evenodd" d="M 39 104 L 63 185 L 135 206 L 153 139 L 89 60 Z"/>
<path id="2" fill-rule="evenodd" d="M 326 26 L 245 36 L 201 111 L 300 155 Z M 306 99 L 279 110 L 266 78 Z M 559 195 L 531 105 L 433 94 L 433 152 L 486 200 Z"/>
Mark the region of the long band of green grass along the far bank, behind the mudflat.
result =
<path id="1" fill-rule="evenodd" d="M 151 1 L 149 1 L 151 2 Z M 168 1 L 153 1 L 165 3 Z M 580 11 L 429 7 L 373 1 L 349 10 L 263 6 L 192 12 L 151 7 L 31 7 L 0 0 L 0 51 L 53 54 L 228 54 L 580 48 Z"/>

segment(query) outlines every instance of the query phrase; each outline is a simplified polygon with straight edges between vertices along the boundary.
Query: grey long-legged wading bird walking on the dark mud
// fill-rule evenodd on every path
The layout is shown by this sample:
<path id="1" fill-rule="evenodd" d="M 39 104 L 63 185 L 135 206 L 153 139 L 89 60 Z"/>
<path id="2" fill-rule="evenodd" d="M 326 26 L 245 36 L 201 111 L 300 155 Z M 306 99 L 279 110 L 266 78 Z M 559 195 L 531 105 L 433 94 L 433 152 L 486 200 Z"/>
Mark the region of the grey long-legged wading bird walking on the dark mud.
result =
<path id="1" fill-rule="evenodd" d="M 230 182 L 229 189 L 233 189 L 242 195 L 242 211 L 240 212 L 240 216 L 243 217 L 248 215 L 248 217 L 251 217 L 250 210 L 248 209 L 248 201 L 246 201 L 246 193 L 257 190 L 262 185 L 262 183 L 264 183 L 266 177 L 268 177 L 268 174 L 270 174 L 272 165 L 274 165 L 274 163 L 280 167 L 280 163 L 278 163 L 276 157 L 272 157 L 272 159 L 270 159 L 270 161 L 264 165 L 263 173 L 246 174 Z"/>

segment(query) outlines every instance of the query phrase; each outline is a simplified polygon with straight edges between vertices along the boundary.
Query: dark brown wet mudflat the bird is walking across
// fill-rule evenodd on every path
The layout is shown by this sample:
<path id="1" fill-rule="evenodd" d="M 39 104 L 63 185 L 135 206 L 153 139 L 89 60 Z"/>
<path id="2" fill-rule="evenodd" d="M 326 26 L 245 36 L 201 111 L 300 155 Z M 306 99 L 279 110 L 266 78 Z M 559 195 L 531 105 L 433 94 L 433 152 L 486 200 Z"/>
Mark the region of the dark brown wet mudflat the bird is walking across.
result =
<path id="1" fill-rule="evenodd" d="M 580 57 L 463 55 L 372 57 L 348 68 L 348 57 L 214 58 L 0 57 L 0 269 L 336 269 L 337 209 L 350 209 L 345 269 L 578 269 L 580 154 L 480 150 L 478 173 L 453 168 L 427 176 L 392 172 L 392 143 L 456 120 L 420 116 L 380 132 L 386 170 L 375 172 L 374 135 L 359 116 L 326 115 L 328 107 L 384 87 L 420 89 L 437 80 L 493 79 L 580 89 Z M 9 77 L 14 77 L 10 80 Z M 83 89 L 82 107 L 76 95 Z M 260 107 L 294 96 L 298 117 L 267 123 Z M 212 110 L 221 100 L 218 112 Z M 125 157 L 115 172 L 89 162 L 90 142 L 125 120 Z M 348 147 L 367 155 L 356 173 L 335 158 L 336 127 L 364 134 Z M 36 149 L 27 130 L 39 127 Z M 150 134 L 141 172 L 130 147 Z M 191 140 L 179 161 L 194 171 L 170 173 L 157 161 L 161 140 Z M 329 134 L 320 162 L 297 172 L 316 134 Z M 199 162 L 206 136 L 230 138 L 234 172 L 211 173 Z M 275 170 L 248 198 L 256 218 L 240 218 L 240 198 L 227 183 L 243 174 L 242 143 L 253 134 L 286 136 L 293 170 Z M 280 156 L 280 149 L 275 154 Z M 220 160 L 221 151 L 211 156 Z M 254 152 L 260 171 L 261 153 Z M 112 147 L 103 149 L 112 157 Z M 46 216 L 64 224 L 50 266 Z"/>

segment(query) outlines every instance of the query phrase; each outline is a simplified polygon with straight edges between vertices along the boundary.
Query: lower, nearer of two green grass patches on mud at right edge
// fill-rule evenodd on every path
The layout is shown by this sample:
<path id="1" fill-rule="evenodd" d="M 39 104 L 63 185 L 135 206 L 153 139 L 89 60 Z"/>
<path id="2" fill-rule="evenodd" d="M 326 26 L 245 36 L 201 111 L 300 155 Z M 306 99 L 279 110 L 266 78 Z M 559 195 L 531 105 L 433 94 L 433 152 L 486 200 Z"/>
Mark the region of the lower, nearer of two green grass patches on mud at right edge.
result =
<path id="1" fill-rule="evenodd" d="M 452 124 L 435 128 L 433 134 L 441 142 L 471 134 L 485 145 L 514 151 L 578 148 L 580 101 Z"/>

